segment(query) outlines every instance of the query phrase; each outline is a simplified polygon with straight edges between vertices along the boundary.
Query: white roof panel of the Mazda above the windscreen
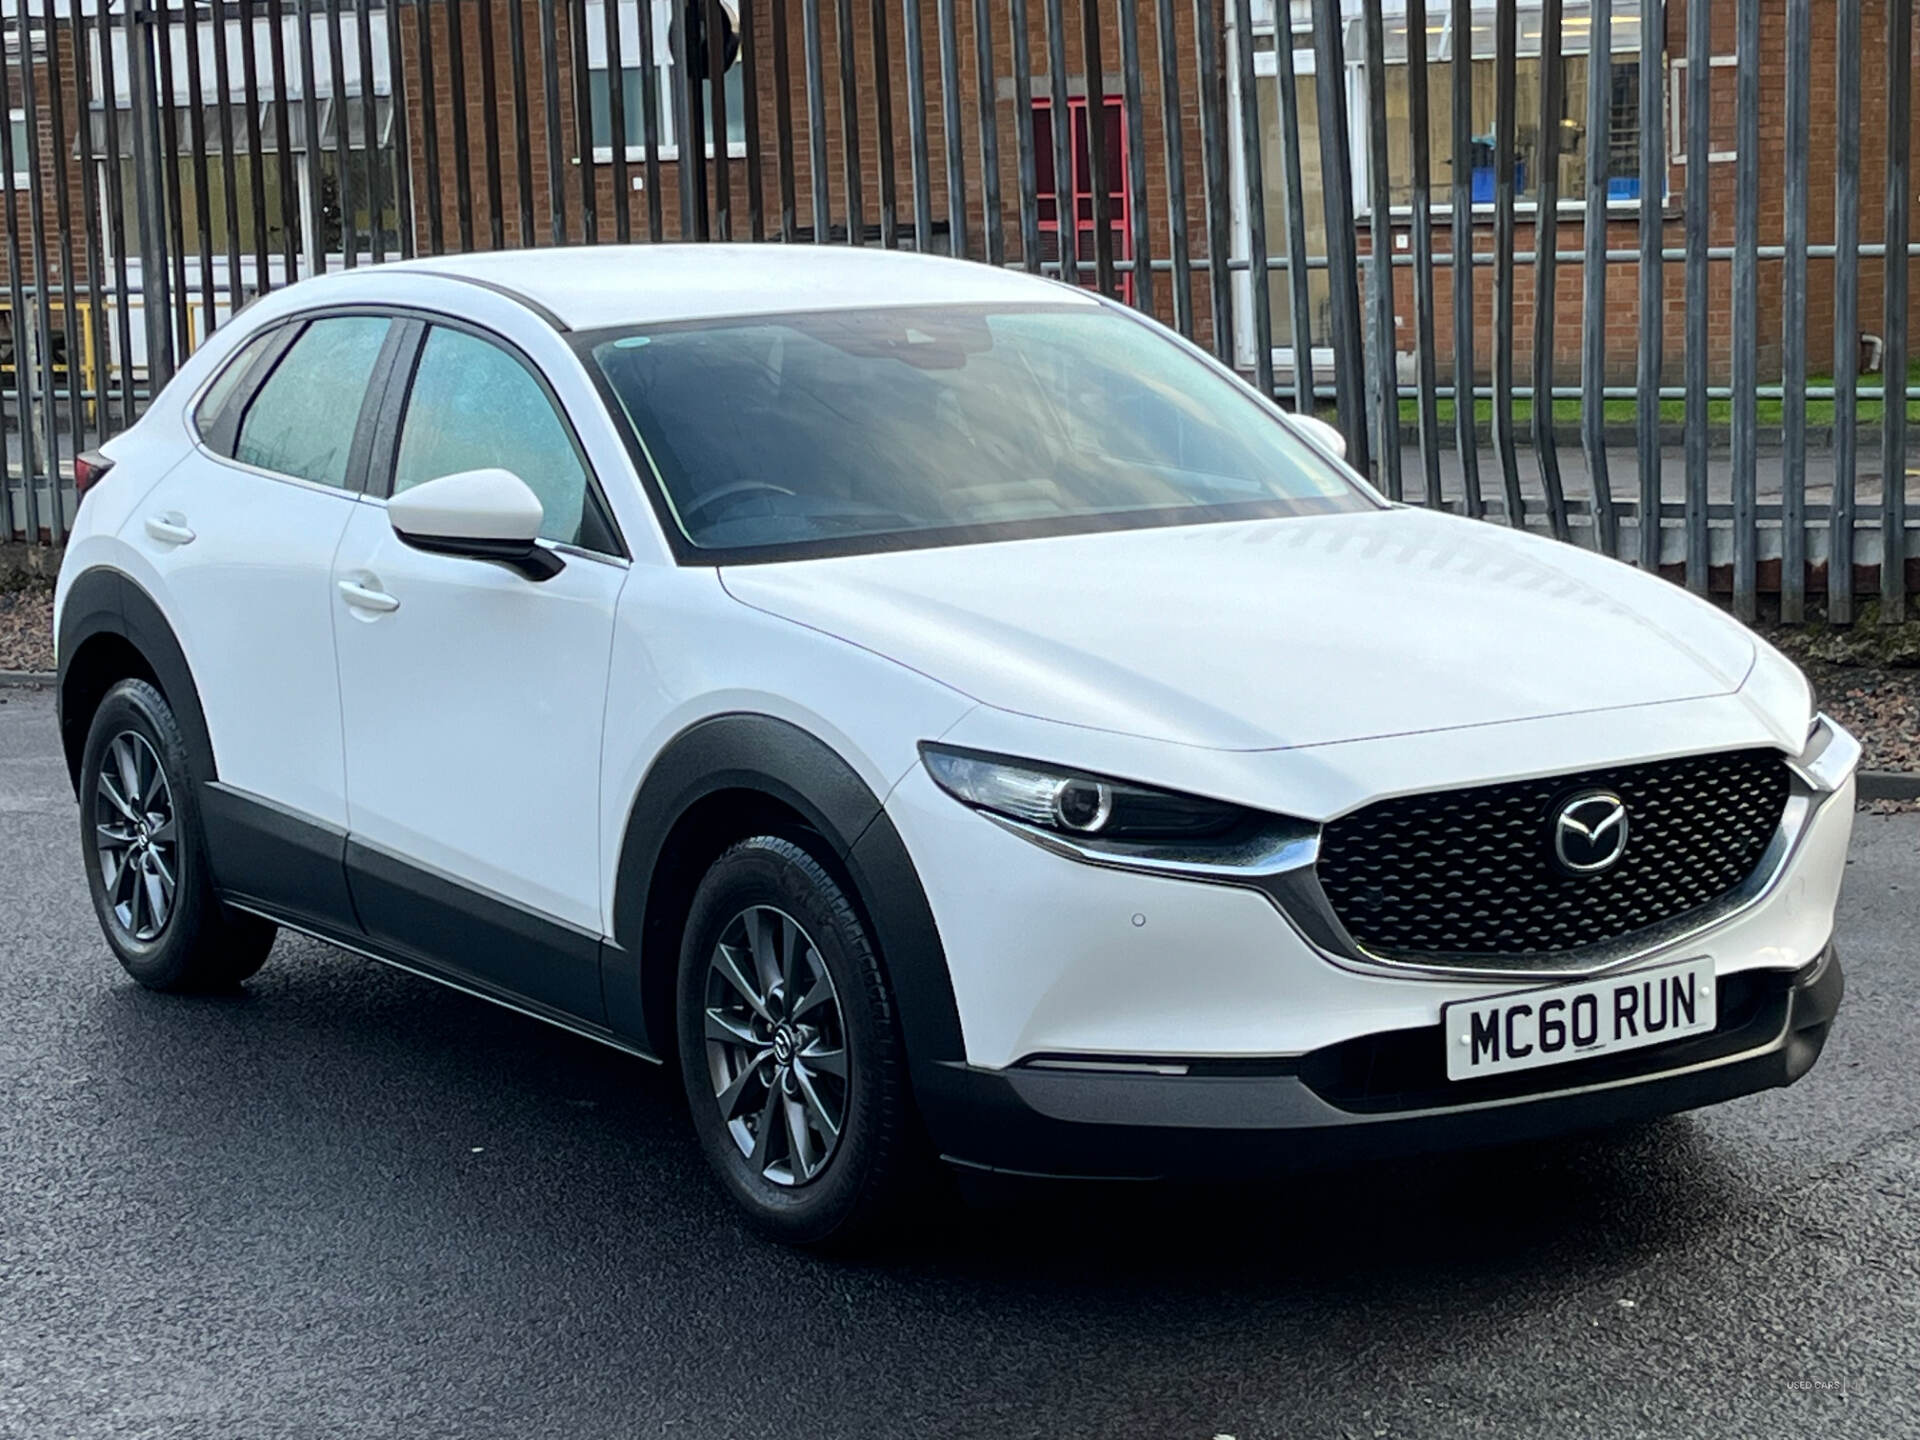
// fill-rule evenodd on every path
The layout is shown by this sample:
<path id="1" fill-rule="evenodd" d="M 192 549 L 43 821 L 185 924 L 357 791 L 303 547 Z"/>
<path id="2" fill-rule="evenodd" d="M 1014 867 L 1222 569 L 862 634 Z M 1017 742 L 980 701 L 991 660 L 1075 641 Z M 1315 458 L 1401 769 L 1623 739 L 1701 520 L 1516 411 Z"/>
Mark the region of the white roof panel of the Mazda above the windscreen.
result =
<path id="1" fill-rule="evenodd" d="M 511 292 L 570 330 L 868 305 L 1096 303 L 1023 271 L 860 246 L 574 246 L 374 267 L 396 271 Z"/>

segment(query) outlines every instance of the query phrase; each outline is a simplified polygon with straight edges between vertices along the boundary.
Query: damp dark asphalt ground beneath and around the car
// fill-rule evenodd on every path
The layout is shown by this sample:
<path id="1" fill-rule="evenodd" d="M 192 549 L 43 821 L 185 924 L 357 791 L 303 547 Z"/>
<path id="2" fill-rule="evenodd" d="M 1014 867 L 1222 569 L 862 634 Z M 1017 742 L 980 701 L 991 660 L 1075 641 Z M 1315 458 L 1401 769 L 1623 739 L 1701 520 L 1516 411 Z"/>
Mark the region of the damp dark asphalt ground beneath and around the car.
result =
<path id="1" fill-rule="evenodd" d="M 1603 1139 L 747 1236 L 666 1075 L 286 937 L 134 989 L 0 705 L 0 1434 L 1920 1432 L 1920 814 L 1826 1058 Z"/>

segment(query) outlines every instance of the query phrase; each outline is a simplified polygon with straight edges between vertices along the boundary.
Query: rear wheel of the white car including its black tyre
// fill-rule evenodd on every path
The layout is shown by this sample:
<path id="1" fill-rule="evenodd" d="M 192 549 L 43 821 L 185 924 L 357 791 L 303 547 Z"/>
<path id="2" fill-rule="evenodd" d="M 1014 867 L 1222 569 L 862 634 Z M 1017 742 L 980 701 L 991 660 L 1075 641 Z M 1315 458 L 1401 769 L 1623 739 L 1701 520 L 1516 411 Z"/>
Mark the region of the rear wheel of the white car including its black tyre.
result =
<path id="1" fill-rule="evenodd" d="M 142 791 L 131 806 L 127 774 Z M 144 680 L 113 685 L 86 730 L 81 854 L 108 945 L 150 991 L 232 989 L 267 962 L 275 925 L 215 895 L 186 743 Z"/>

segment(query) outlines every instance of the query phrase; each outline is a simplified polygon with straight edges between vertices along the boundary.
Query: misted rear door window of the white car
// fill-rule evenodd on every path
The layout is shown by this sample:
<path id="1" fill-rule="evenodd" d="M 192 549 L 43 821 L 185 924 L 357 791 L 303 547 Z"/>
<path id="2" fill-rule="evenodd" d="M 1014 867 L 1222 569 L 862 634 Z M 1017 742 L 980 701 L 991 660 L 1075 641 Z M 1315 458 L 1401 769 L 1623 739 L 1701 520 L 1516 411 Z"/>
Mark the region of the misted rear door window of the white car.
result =
<path id="1" fill-rule="evenodd" d="M 248 405 L 234 459 L 344 488 L 361 401 L 386 330 L 380 315 L 313 321 Z"/>

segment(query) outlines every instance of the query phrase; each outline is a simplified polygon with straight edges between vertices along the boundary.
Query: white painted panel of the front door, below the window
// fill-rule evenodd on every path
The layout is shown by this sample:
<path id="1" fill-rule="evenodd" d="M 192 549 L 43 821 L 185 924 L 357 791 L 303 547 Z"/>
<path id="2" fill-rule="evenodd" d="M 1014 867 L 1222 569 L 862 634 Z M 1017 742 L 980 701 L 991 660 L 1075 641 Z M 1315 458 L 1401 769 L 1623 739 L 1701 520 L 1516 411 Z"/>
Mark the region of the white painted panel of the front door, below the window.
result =
<path id="1" fill-rule="evenodd" d="M 332 578 L 390 607 L 340 595 L 348 829 L 599 933 L 601 707 L 626 566 L 572 559 L 534 584 L 413 549 L 378 503 L 353 509 Z"/>

